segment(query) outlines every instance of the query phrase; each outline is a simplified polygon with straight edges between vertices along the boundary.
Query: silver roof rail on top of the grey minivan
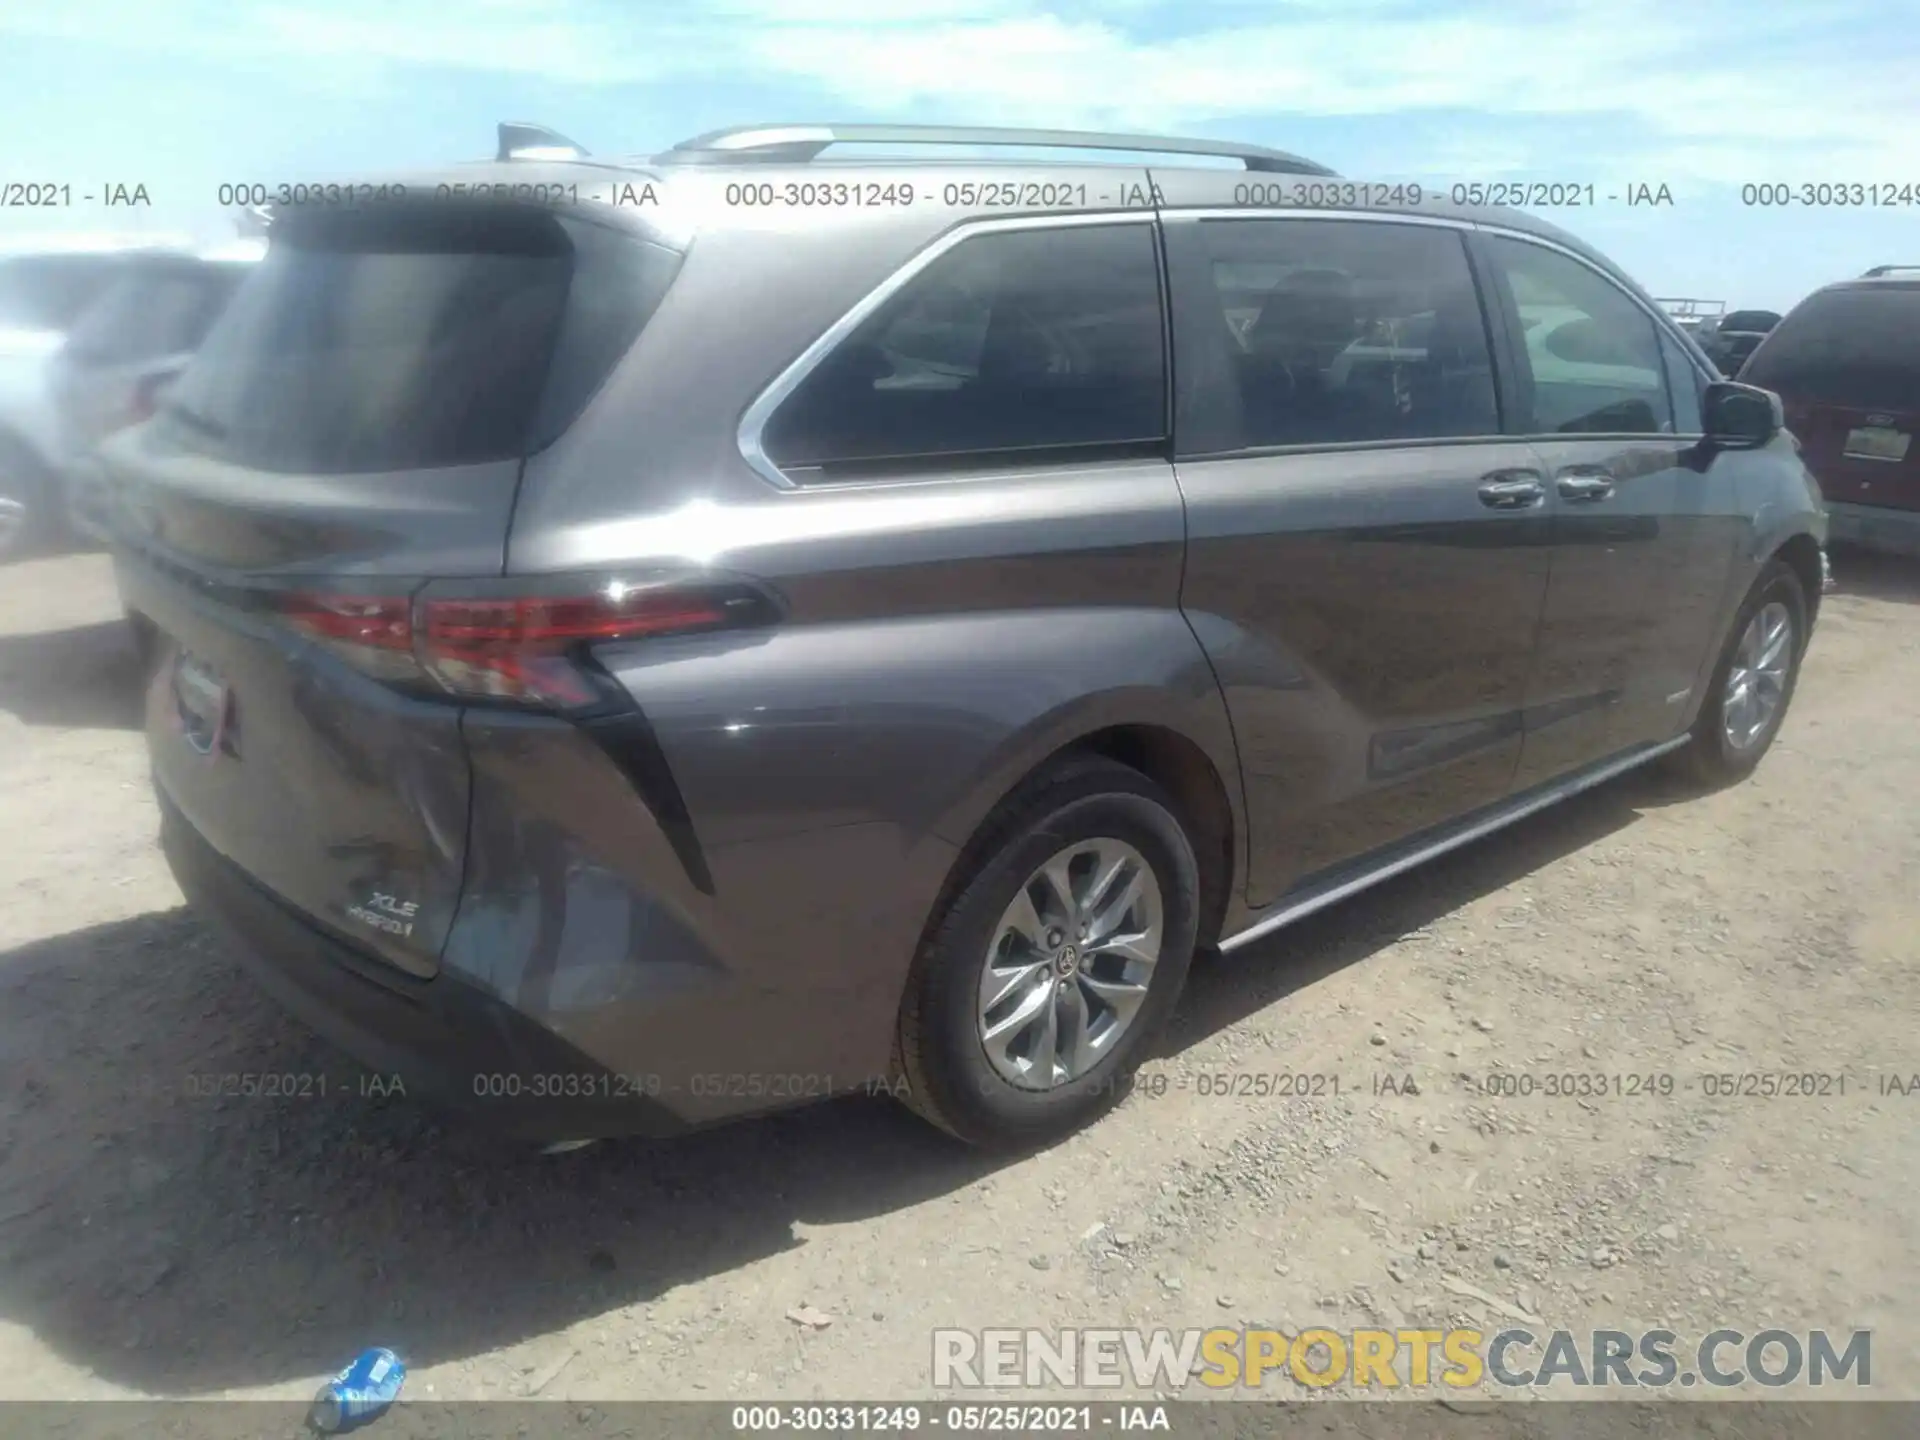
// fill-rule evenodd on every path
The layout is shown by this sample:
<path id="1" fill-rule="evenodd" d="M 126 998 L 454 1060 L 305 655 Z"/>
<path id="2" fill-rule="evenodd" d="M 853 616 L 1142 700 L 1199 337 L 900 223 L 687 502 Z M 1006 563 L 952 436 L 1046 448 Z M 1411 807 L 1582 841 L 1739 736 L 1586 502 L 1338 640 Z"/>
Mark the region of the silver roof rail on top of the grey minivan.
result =
<path id="1" fill-rule="evenodd" d="M 1238 159 L 1250 171 L 1334 175 L 1315 159 L 1235 140 L 1181 140 L 1167 134 L 1108 134 L 1102 131 L 1020 131 L 1004 125 L 745 125 L 708 131 L 657 156 L 662 163 L 720 165 L 728 161 L 806 163 L 835 144 L 900 146 L 1031 146 L 1035 150 L 1135 150 L 1164 156 Z"/>

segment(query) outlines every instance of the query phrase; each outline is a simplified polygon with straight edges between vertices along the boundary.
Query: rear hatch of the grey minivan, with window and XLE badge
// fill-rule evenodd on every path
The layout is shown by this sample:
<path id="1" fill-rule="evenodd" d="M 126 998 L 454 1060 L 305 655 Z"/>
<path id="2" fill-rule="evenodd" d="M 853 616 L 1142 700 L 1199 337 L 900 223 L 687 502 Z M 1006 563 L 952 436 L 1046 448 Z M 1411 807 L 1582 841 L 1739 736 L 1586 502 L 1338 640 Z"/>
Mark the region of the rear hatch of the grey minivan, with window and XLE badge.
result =
<path id="1" fill-rule="evenodd" d="M 123 593 L 161 641 L 169 822 L 415 975 L 459 900 L 463 705 L 511 689 L 486 655 L 430 657 L 419 597 L 501 584 L 524 457 L 676 269 L 580 213 L 292 213 L 159 415 L 102 451 Z"/>

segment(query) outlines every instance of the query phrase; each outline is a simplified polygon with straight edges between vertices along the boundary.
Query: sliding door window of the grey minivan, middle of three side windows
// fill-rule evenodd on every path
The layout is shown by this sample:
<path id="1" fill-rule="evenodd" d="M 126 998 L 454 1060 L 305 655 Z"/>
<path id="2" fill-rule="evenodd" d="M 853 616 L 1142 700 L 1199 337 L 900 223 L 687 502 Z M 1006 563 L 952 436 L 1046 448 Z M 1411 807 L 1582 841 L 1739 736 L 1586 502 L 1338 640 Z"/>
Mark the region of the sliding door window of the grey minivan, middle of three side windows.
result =
<path id="1" fill-rule="evenodd" d="M 1181 317 L 1200 451 L 1500 430 L 1486 321 L 1457 232 L 1365 221 L 1204 221 Z M 1183 300 L 1185 305 L 1185 300 Z M 1183 371 L 1187 363 L 1183 361 Z M 1183 420 L 1185 424 L 1185 420 Z"/>

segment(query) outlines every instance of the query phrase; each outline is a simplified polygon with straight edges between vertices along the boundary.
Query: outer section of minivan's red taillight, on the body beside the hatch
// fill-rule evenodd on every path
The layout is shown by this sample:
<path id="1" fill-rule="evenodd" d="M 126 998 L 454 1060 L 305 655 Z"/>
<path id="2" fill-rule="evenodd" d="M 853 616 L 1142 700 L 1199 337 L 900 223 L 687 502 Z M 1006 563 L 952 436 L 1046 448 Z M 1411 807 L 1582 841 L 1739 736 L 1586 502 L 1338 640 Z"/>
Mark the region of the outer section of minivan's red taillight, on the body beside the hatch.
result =
<path id="1" fill-rule="evenodd" d="M 639 639 L 726 624 L 720 601 L 678 591 L 505 599 L 426 599 L 417 649 L 455 695 L 576 707 L 601 699 L 570 651 L 591 641 Z"/>

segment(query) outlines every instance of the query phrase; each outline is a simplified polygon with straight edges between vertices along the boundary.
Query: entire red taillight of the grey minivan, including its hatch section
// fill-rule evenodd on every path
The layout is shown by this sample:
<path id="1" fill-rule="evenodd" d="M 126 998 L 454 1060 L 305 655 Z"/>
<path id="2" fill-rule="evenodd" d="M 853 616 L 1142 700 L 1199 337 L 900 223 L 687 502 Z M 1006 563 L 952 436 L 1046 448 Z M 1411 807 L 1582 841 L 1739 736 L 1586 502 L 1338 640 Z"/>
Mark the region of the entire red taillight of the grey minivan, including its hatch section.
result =
<path id="1" fill-rule="evenodd" d="M 578 710 L 609 699 L 591 645 L 766 624 L 774 605 L 741 584 L 609 582 L 532 593 L 503 582 L 432 584 L 411 597 L 301 591 L 280 601 L 280 614 L 376 680 Z"/>

